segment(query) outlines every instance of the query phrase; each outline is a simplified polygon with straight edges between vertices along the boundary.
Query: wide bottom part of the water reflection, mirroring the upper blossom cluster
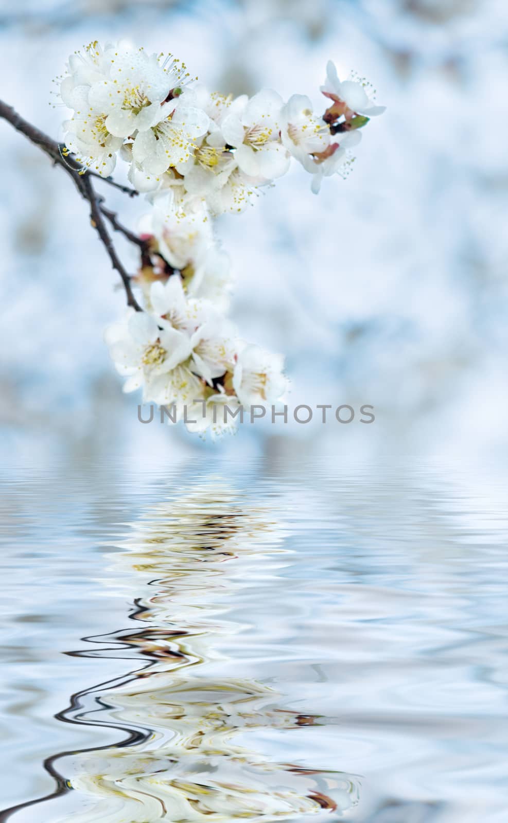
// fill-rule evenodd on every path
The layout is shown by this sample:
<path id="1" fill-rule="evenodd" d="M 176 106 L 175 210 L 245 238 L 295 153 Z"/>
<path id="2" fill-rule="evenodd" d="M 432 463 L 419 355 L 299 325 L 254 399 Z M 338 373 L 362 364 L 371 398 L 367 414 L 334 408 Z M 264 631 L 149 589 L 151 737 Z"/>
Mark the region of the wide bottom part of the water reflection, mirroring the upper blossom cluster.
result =
<path id="1" fill-rule="evenodd" d="M 149 724 L 153 735 L 141 745 L 85 759 L 72 780 L 73 788 L 113 801 L 112 816 L 105 820 L 144 821 L 147 815 L 171 821 L 205 816 L 275 820 L 323 808 L 342 810 L 356 800 L 356 787 L 343 774 L 270 763 L 235 746 L 232 738 L 240 730 L 291 729 L 313 722 L 312 717 L 265 708 L 277 697 L 272 690 L 245 681 L 165 680 L 160 688 L 148 682 L 147 690 L 120 690 L 107 697 L 121 706 L 115 718 Z M 96 809 L 77 821 L 93 821 L 94 814 Z"/>

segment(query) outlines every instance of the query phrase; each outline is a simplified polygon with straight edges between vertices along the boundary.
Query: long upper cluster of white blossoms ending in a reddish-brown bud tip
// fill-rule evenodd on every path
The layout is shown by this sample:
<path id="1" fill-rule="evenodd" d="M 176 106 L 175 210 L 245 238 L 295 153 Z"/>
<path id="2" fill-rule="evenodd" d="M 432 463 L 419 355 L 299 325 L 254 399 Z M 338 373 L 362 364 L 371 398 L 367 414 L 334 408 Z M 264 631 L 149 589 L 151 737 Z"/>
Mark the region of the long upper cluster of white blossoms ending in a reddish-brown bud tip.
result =
<path id="1" fill-rule="evenodd" d="M 284 103 L 275 91 L 233 98 L 193 81 L 171 55 L 128 44 L 91 43 L 72 54 L 60 82 L 68 148 L 99 174 L 120 155 L 138 191 L 170 189 L 182 211 L 242 212 L 256 191 L 282 177 L 296 158 L 312 175 L 343 170 L 368 120 L 384 111 L 361 78 L 340 81 L 333 63 L 321 91 L 323 116 L 305 95 Z"/>

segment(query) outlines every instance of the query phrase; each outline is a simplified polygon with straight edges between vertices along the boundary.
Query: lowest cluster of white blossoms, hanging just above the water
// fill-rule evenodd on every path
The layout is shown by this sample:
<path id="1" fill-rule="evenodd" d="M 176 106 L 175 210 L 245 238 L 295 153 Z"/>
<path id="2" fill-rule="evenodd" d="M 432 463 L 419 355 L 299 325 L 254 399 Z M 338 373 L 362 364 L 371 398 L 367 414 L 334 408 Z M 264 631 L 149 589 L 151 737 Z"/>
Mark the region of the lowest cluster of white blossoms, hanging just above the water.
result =
<path id="1" fill-rule="evenodd" d="M 209 300 L 185 294 L 180 277 L 153 282 L 147 310 L 128 309 L 105 338 L 125 392 L 142 388 L 143 402 L 172 407 L 189 431 L 212 439 L 235 431 L 235 410 L 287 391 L 282 356 L 242 341 Z"/>

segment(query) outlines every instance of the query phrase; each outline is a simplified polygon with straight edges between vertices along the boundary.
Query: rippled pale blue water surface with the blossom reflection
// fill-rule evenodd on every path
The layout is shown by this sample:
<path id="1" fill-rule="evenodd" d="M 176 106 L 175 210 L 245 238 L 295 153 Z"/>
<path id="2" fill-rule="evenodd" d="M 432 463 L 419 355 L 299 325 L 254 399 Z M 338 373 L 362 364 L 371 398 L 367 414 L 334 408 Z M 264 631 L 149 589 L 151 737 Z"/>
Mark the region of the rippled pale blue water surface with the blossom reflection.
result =
<path id="1" fill-rule="evenodd" d="M 2 472 L 3 820 L 506 820 L 508 486 Z"/>

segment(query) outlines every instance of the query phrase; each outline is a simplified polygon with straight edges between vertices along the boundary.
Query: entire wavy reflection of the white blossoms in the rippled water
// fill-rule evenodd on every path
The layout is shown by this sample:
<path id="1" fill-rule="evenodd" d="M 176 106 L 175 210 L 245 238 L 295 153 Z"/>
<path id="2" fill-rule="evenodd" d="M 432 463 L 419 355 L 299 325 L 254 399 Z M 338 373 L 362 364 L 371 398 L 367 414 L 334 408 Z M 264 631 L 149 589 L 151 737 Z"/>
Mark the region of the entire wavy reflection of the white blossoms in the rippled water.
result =
<path id="1" fill-rule="evenodd" d="M 217 483 L 151 507 L 133 526 L 114 562 L 146 575 L 154 589 L 131 614 L 142 628 L 95 638 L 102 649 L 75 654 L 128 656 L 143 666 L 82 692 L 62 717 L 131 737 L 65 757 L 65 785 L 75 791 L 59 802 L 54 823 L 70 816 L 73 823 L 275 821 L 357 802 L 347 775 L 274 763 L 245 745 L 256 729 L 299 728 L 319 718 L 277 708 L 277 692 L 257 681 L 202 672 L 203 664 L 224 659 L 214 640 L 236 630 L 222 616 L 232 588 L 227 561 L 284 551 L 281 541 L 266 510 L 217 491 Z"/>

